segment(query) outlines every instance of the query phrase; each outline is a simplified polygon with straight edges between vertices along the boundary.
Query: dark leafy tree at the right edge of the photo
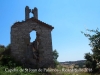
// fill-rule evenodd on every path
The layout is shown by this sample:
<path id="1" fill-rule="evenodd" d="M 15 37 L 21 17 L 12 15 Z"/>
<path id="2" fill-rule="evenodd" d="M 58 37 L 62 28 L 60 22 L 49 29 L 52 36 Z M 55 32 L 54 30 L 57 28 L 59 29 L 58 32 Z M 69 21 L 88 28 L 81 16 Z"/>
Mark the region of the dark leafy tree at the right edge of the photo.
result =
<path id="1" fill-rule="evenodd" d="M 89 30 L 87 31 L 92 32 L 93 34 L 86 34 L 82 32 L 88 39 L 90 40 L 90 47 L 92 48 L 92 54 L 86 53 L 86 67 L 92 68 L 92 72 L 97 72 L 100 69 L 98 63 L 100 63 L 100 32 L 97 28 L 96 30 Z"/>

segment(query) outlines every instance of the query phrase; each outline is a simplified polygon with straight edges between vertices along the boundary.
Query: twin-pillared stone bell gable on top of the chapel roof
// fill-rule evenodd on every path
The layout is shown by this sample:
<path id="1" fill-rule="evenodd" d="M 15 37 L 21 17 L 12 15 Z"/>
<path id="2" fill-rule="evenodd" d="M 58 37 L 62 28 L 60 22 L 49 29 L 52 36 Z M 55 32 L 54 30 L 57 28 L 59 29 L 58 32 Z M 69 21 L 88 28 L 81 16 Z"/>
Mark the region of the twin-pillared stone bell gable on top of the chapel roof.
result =
<path id="1" fill-rule="evenodd" d="M 38 19 L 38 10 L 37 8 L 35 7 L 34 9 L 29 9 L 28 6 L 25 7 L 25 20 L 29 19 L 29 14 L 32 13 L 34 18 Z"/>

